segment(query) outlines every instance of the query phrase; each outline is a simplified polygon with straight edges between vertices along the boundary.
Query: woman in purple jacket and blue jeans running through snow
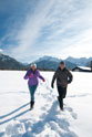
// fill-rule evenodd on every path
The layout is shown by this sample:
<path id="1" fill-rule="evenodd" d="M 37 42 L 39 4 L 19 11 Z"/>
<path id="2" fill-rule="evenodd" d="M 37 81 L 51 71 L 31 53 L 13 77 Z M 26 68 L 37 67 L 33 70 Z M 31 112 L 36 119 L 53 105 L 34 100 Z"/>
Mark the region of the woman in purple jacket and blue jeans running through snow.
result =
<path id="1" fill-rule="evenodd" d="M 24 75 L 24 80 L 28 80 L 31 96 L 30 109 L 33 108 L 34 105 L 34 93 L 39 84 L 38 78 L 41 78 L 43 82 L 45 82 L 45 80 L 40 75 L 40 72 L 37 70 L 37 64 L 33 63 L 31 64 L 31 68 L 28 70 L 27 74 Z"/>

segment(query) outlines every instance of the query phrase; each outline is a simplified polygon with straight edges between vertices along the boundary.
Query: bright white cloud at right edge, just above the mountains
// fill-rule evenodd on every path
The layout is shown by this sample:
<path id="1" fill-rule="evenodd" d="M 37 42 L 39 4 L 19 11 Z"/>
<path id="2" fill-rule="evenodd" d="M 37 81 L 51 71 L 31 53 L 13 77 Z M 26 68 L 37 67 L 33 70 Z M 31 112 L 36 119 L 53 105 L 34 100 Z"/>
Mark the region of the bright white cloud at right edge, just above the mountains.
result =
<path id="1" fill-rule="evenodd" d="M 92 29 L 78 35 L 74 41 L 73 44 L 63 49 L 61 56 L 65 54 L 75 57 L 92 56 Z"/>

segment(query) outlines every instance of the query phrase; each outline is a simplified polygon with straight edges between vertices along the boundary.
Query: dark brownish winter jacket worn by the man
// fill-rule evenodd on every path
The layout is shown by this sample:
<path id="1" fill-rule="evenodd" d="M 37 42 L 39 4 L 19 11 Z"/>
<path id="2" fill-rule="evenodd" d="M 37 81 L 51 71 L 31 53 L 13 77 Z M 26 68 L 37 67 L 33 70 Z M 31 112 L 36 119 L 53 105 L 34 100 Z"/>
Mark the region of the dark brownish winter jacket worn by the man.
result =
<path id="1" fill-rule="evenodd" d="M 64 70 L 61 70 L 61 67 L 59 67 L 53 75 L 52 83 L 51 83 L 52 87 L 55 78 L 57 78 L 58 86 L 67 87 L 68 84 L 72 82 L 73 76 L 68 68 L 64 67 Z"/>

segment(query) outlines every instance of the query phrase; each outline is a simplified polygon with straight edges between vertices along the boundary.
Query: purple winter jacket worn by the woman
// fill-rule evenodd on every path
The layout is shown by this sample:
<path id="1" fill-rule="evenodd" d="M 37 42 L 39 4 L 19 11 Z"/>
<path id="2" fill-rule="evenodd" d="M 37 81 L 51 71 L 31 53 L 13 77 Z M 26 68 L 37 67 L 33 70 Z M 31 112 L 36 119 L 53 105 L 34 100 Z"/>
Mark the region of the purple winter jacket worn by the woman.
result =
<path id="1" fill-rule="evenodd" d="M 30 77 L 30 75 L 32 76 Z M 38 78 L 44 81 L 44 78 L 40 75 L 40 72 L 38 70 L 35 70 L 35 73 L 33 73 L 33 71 L 30 68 L 27 71 L 27 74 L 24 75 L 24 80 L 28 80 L 28 85 L 38 85 L 39 84 Z"/>

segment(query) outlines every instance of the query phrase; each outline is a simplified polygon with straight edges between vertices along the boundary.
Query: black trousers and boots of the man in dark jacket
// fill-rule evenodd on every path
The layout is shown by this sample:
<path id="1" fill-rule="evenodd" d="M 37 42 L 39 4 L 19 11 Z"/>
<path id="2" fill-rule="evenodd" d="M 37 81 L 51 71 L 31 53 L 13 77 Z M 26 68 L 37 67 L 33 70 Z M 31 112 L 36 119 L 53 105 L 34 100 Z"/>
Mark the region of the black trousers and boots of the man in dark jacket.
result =
<path id="1" fill-rule="evenodd" d="M 63 98 L 65 98 L 67 95 L 67 87 L 58 86 L 58 93 L 59 93 L 59 103 L 60 103 L 60 108 L 63 109 Z"/>

